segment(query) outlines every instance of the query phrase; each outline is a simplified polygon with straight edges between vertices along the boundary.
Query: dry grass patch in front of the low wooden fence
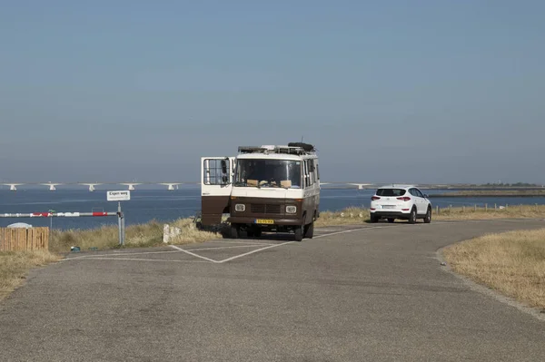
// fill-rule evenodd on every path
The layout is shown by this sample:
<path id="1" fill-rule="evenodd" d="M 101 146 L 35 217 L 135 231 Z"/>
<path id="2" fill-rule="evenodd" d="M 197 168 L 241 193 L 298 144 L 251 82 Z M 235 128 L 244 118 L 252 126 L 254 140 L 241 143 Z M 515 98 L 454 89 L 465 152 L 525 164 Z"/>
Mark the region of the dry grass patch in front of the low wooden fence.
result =
<path id="1" fill-rule="evenodd" d="M 45 250 L 0 252 L 0 300 L 25 281 L 28 270 L 58 259 L 58 255 Z"/>

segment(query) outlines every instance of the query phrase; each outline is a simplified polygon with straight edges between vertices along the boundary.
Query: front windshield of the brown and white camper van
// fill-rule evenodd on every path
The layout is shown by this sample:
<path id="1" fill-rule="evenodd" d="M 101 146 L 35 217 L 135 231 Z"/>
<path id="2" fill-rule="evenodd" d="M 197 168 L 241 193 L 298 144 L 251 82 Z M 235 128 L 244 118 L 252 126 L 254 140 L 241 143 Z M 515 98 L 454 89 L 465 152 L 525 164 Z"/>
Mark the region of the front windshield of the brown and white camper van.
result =
<path id="1" fill-rule="evenodd" d="M 234 186 L 301 188 L 301 161 L 238 160 Z"/>

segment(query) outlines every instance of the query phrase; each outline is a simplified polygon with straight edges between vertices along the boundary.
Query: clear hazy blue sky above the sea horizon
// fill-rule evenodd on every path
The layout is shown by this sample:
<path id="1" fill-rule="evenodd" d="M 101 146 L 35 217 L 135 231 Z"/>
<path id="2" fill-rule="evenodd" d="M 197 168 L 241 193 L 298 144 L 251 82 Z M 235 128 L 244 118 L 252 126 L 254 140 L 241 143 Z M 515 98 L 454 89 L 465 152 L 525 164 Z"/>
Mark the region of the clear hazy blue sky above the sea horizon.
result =
<path id="1" fill-rule="evenodd" d="M 325 181 L 545 182 L 540 1 L 0 5 L 0 180 L 198 181 L 304 140 Z"/>

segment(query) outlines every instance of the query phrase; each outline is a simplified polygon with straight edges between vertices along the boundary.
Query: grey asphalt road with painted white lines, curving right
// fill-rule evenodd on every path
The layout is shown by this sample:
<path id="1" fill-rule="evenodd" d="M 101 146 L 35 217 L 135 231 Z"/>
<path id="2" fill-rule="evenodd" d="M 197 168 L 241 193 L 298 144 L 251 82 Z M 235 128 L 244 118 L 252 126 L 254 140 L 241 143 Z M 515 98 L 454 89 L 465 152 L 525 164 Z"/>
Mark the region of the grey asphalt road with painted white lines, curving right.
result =
<path id="1" fill-rule="evenodd" d="M 545 322 L 436 251 L 542 220 L 74 253 L 0 303 L 1 361 L 543 361 Z M 221 249 L 218 249 L 221 248 Z"/>

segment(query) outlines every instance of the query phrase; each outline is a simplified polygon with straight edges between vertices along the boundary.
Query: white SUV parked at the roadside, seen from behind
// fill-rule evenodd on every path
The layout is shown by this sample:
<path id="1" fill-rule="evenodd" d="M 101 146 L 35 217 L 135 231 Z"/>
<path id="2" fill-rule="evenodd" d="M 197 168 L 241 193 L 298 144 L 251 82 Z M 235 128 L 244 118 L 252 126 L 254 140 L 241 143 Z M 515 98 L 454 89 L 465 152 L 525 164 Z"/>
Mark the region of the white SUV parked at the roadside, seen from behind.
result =
<path id="1" fill-rule="evenodd" d="M 383 186 L 371 198 L 371 222 L 388 219 L 409 220 L 411 224 L 417 219 L 431 222 L 431 202 L 428 195 L 423 194 L 417 187 Z"/>

